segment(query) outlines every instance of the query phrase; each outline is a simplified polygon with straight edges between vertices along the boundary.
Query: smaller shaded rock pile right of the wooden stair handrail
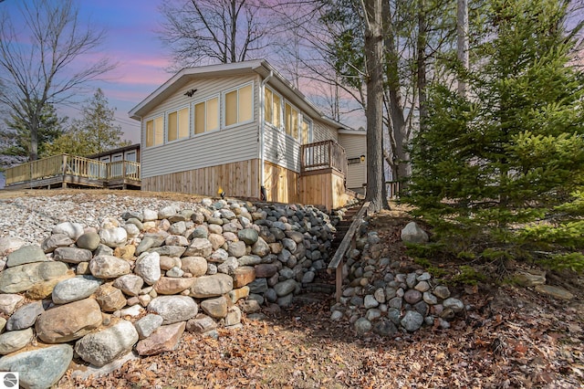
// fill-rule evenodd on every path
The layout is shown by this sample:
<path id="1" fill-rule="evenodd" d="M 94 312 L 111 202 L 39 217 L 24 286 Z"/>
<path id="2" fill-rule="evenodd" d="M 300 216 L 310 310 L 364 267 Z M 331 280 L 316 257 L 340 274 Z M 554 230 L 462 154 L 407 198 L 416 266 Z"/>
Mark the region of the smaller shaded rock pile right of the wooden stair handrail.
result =
<path id="1" fill-rule="evenodd" d="M 402 238 L 417 229 L 408 225 Z M 361 228 L 357 248 L 349 250 L 344 268 L 349 285 L 332 307 L 330 319 L 348 320 L 361 335 L 372 331 L 391 336 L 417 331 L 424 324 L 450 327 L 449 321 L 465 309 L 464 303 L 451 296 L 450 289 L 437 285 L 430 273 L 402 272 L 399 260 L 384 256 L 386 247 L 377 232 Z"/>

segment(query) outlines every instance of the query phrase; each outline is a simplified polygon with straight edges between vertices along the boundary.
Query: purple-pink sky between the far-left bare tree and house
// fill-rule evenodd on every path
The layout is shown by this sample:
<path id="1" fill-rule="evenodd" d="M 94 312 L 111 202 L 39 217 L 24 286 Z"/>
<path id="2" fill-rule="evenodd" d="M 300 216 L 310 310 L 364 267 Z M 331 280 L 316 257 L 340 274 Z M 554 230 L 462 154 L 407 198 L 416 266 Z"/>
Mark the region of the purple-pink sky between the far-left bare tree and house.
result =
<path id="1" fill-rule="evenodd" d="M 22 1 L 26 0 L 5 0 L 0 8 L 11 17 L 20 17 L 19 3 Z M 110 107 L 116 109 L 115 119 L 126 138 L 140 142 L 139 122 L 131 120 L 128 111 L 172 76 L 165 70 L 169 65 L 168 56 L 156 34 L 162 22 L 158 11 L 160 0 L 78 0 L 76 3 L 82 23 L 90 20 L 93 26 L 106 31 L 101 52 L 93 55 L 96 58 L 106 56 L 118 63 L 118 67 L 105 76 L 107 80 L 94 81 L 91 86 L 101 88 Z M 91 95 L 88 92 L 78 100 L 87 100 Z M 69 105 L 59 113 L 75 118 L 79 108 L 80 105 Z"/>

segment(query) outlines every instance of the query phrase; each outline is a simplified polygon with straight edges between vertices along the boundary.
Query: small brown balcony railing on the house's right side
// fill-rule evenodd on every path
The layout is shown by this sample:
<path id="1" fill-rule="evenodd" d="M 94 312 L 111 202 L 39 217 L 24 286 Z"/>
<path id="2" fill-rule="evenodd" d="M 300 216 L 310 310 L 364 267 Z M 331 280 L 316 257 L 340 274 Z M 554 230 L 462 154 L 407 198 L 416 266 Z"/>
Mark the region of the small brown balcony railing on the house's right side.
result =
<path id="1" fill-rule="evenodd" d="M 335 141 L 303 144 L 300 147 L 300 173 L 333 168 L 347 174 L 345 149 Z"/>

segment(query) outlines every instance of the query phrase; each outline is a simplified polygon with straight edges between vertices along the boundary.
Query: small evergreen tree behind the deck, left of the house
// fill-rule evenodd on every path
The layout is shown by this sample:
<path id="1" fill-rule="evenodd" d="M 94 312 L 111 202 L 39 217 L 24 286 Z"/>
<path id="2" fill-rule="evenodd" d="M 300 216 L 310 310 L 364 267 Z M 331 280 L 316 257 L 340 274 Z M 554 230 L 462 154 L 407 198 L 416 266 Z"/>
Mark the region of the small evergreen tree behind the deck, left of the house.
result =
<path id="1" fill-rule="evenodd" d="M 83 117 L 74 120 L 69 130 L 47 147 L 47 156 L 61 153 L 86 156 L 130 145 L 122 141 L 123 131 L 114 122 L 115 109 L 101 89 L 82 108 Z"/>

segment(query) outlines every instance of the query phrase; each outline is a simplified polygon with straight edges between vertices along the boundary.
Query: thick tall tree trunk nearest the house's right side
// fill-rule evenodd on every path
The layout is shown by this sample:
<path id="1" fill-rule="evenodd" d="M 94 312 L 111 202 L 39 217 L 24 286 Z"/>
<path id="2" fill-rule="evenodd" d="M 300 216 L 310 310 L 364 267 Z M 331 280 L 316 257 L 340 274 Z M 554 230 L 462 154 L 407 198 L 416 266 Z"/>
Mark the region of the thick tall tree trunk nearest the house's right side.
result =
<path id="1" fill-rule="evenodd" d="M 367 66 L 367 195 L 371 212 L 389 208 L 383 174 L 383 74 L 381 0 L 365 0 Z"/>

